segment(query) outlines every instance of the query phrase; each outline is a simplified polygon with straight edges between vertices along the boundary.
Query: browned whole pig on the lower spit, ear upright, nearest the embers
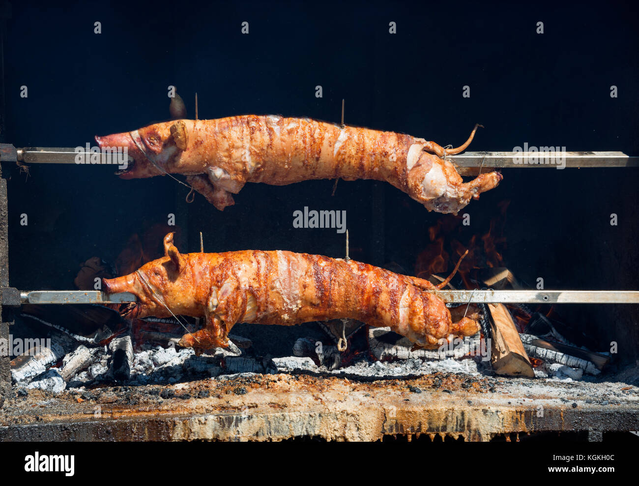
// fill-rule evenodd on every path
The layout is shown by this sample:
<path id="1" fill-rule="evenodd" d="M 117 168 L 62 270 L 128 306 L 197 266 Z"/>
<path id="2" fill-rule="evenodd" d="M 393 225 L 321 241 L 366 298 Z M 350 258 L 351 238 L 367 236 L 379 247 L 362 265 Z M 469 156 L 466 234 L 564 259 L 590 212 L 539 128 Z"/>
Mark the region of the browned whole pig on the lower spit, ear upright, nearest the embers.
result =
<path id="1" fill-rule="evenodd" d="M 135 304 L 125 317 L 204 317 L 206 325 L 180 344 L 197 350 L 226 347 L 237 322 L 295 325 L 353 318 L 390 328 L 421 347 L 471 336 L 475 320 L 453 323 L 427 280 L 366 263 L 290 251 L 231 251 L 181 255 L 173 233 L 164 238 L 166 256 L 132 274 L 105 279 L 106 292 L 131 292 Z M 153 290 L 151 290 L 151 288 Z"/>

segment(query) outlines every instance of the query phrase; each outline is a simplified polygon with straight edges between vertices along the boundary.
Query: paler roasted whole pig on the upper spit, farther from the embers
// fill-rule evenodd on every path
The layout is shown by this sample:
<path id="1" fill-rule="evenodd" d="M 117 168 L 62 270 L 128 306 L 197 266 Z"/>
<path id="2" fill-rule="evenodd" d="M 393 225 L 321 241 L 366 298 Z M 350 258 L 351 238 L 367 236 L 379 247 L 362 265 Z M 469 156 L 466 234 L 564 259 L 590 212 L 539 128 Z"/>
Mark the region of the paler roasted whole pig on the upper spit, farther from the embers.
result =
<path id="1" fill-rule="evenodd" d="M 122 178 L 184 174 L 219 210 L 233 205 L 231 194 L 247 182 L 285 185 L 343 178 L 383 180 L 428 210 L 457 214 L 502 179 L 491 172 L 465 184 L 454 166 L 440 158 L 464 150 L 474 133 L 464 145 L 445 149 L 395 132 L 309 118 L 244 115 L 167 121 L 96 141 L 102 148 L 128 148 L 135 162 Z"/>

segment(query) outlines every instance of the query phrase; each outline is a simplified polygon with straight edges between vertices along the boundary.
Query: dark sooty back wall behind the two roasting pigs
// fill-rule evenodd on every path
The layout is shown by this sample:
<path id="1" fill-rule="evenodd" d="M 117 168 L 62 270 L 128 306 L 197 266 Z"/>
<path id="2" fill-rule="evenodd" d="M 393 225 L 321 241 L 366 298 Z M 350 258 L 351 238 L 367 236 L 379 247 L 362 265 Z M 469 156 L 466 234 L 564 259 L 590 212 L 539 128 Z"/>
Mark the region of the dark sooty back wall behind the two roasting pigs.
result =
<path id="1" fill-rule="evenodd" d="M 102 34 L 93 22 L 102 22 Z M 482 3 L 13 3 L 5 47 L 6 142 L 77 146 L 95 134 L 168 118 L 167 86 L 194 117 L 282 114 L 406 132 L 470 150 L 565 145 L 639 154 L 636 15 L 631 6 Z M 243 21 L 249 35 L 240 33 Z M 389 34 L 389 22 L 397 34 Z M 544 22 L 544 34 L 535 24 Z M 28 98 L 20 98 L 21 85 Z M 323 86 L 323 98 L 315 86 Z M 470 98 L 462 97 L 469 85 Z M 619 98 L 610 97 L 610 86 Z M 189 236 L 182 251 L 289 249 L 343 256 L 344 235 L 292 226 L 293 211 L 346 210 L 351 256 L 412 273 L 429 213 L 389 184 L 320 180 L 247 184 L 219 212 L 166 177 L 123 181 L 110 166 L 15 168 L 9 191 L 10 283 L 72 288 L 80 262 L 114 260 L 129 235 L 167 214 Z M 546 288 L 635 290 L 639 169 L 509 169 L 464 212 L 464 233 L 507 210 L 504 263 Z M 380 209 L 381 208 L 381 209 Z M 28 226 L 20 226 L 26 213 Z M 619 225 L 610 226 L 610 214 Z M 159 244 L 159 242 L 158 242 Z M 563 306 L 602 341 L 636 358 L 636 306 Z"/>

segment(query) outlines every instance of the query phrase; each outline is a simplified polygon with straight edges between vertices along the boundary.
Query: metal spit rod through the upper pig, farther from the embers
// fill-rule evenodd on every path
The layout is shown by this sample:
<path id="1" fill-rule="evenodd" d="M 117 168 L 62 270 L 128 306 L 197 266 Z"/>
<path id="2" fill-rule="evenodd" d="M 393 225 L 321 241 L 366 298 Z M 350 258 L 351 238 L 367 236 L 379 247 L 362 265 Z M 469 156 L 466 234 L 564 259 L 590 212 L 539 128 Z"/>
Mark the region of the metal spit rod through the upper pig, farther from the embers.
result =
<path id="1" fill-rule="evenodd" d="M 71 147 L 15 148 L 10 144 L 0 144 L 0 149 L 3 162 L 75 164 L 77 156 L 75 148 Z M 460 168 L 639 167 L 639 157 L 629 157 L 623 152 L 465 152 L 450 155 L 449 160 Z M 131 157 L 129 161 L 132 161 Z"/>

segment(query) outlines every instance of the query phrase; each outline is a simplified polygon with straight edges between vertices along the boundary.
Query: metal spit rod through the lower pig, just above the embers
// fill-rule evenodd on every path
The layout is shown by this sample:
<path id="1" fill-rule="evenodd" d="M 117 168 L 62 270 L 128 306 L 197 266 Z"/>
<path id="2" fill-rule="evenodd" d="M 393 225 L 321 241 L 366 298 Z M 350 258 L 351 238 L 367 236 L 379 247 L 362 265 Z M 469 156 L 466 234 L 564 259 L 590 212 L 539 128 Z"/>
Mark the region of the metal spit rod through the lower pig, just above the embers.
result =
<path id="1" fill-rule="evenodd" d="M 433 290 L 444 302 L 502 304 L 638 304 L 631 290 Z M 128 292 L 106 294 L 85 290 L 34 290 L 21 292 L 22 304 L 109 304 L 135 302 Z"/>

